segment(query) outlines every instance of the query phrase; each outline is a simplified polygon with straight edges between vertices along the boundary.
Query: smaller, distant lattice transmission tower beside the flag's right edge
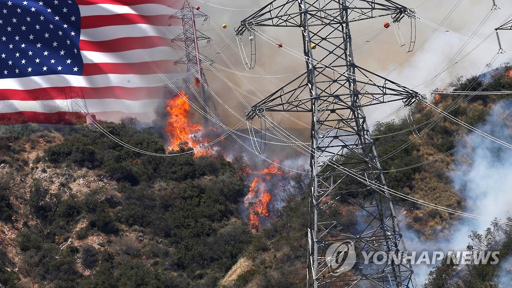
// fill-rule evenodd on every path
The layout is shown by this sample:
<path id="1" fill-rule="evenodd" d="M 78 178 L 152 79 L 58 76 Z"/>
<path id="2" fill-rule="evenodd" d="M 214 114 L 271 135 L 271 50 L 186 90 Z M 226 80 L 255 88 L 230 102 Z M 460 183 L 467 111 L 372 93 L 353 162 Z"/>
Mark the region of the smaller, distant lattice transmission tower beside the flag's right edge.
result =
<path id="1" fill-rule="evenodd" d="M 206 42 L 209 44 L 211 38 L 199 31 L 198 22 L 204 23 L 209 17 L 201 12 L 199 7 L 192 7 L 188 0 L 185 0 L 183 7 L 169 17 L 169 19 L 171 18 L 181 19 L 183 24 L 183 32 L 173 38 L 173 40 L 182 42 L 185 48 L 185 54 L 174 63 L 175 65 L 185 64 L 187 66 L 186 75 L 188 77 L 185 78 L 187 91 L 185 93 L 193 95 L 195 93 L 191 93 L 191 90 L 199 88 L 200 95 L 198 100 L 202 102 L 203 112 L 206 115 L 217 114 L 215 102 L 212 101 L 207 89 L 208 81 L 206 81 L 202 67 L 203 63 L 211 64 L 212 60 L 199 52 L 199 43 Z M 205 125 L 207 125 L 207 116 L 204 116 L 204 121 Z"/>

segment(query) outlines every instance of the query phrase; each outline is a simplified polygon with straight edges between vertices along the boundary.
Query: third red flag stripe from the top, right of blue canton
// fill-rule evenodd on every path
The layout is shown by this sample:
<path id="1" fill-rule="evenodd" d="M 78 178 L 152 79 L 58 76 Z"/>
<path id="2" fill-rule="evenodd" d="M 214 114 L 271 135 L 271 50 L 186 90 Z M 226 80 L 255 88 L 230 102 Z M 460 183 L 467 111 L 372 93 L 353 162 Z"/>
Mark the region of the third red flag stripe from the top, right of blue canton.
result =
<path id="1" fill-rule="evenodd" d="M 104 41 L 80 40 L 81 51 L 113 53 L 155 47 L 177 47 L 172 40 L 160 36 L 125 37 Z"/>

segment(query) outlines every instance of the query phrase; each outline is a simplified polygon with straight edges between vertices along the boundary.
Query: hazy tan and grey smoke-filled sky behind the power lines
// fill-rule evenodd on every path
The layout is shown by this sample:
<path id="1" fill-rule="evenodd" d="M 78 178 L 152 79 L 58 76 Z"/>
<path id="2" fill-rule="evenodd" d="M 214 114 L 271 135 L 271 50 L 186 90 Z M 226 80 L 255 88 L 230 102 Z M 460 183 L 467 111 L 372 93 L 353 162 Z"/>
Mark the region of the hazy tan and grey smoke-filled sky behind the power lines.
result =
<path id="1" fill-rule="evenodd" d="M 215 7 L 213 5 L 231 8 L 231 9 L 257 9 L 263 7 L 267 1 L 227 1 L 227 0 L 211 0 L 207 1 L 209 4 L 192 1 L 193 5 L 200 5 L 201 11 L 210 16 L 209 25 L 203 26 L 203 32 L 208 34 L 217 47 L 220 49 L 227 45 L 228 40 L 234 36 L 234 27 L 239 25 L 240 20 L 248 16 L 254 11 L 247 10 L 230 10 L 225 8 Z M 450 13 L 453 7 L 455 11 L 450 15 L 446 22 L 442 25 L 454 33 L 461 36 L 455 36 L 442 30 L 437 30 L 434 27 L 425 24 L 422 20 L 416 20 L 416 50 L 414 55 L 411 53 L 404 53 L 400 49 L 400 43 L 395 35 L 395 29 L 390 28 L 376 39 L 372 40 L 369 45 L 366 45 L 355 51 L 356 64 L 374 71 L 380 75 L 387 75 L 390 71 L 395 69 L 404 59 L 410 57 L 403 65 L 389 74 L 389 78 L 397 81 L 400 84 L 415 87 L 417 91 L 422 89 L 435 89 L 442 88 L 446 83 L 449 83 L 457 75 L 471 76 L 479 74 L 485 69 L 486 64 L 497 54 L 497 40 L 494 35 L 494 28 L 499 26 L 507 17 L 509 12 L 512 11 L 512 3 L 504 0 L 496 0 L 501 9 L 494 10 L 486 22 L 482 25 L 482 20 L 492 10 L 492 1 L 476 1 L 476 0 L 462 0 L 462 1 L 442 1 L 442 0 L 412 0 L 412 1 L 398 1 L 410 8 L 417 10 L 417 15 L 422 19 L 433 24 L 439 24 L 441 20 Z M 381 28 L 384 22 L 391 22 L 390 17 L 383 17 L 360 22 L 351 26 L 353 47 L 357 47 L 365 43 L 370 37 L 375 35 L 378 29 Z M 227 29 L 222 29 L 221 25 L 227 24 Z M 410 35 L 410 22 L 409 19 L 403 19 L 400 25 L 400 30 L 404 38 L 409 38 Z M 470 37 L 474 31 L 479 31 L 474 35 L 473 42 L 467 42 L 464 37 Z M 283 43 L 287 48 L 297 51 L 302 54 L 302 38 L 301 32 L 295 28 L 262 28 L 263 33 Z M 433 31 L 437 31 L 428 42 L 421 48 L 427 36 Z M 221 34 L 222 33 L 222 34 Z M 366 34 L 366 35 L 365 35 Z M 501 33 L 501 40 L 505 50 L 512 51 L 512 31 L 504 31 Z M 479 42 L 488 39 L 484 45 L 478 45 Z M 244 47 L 249 48 L 248 35 L 244 35 Z M 305 70 L 304 60 L 279 49 L 272 43 L 266 42 L 264 39 L 257 36 L 257 62 L 256 64 L 264 72 L 269 75 L 287 75 L 292 73 L 299 73 Z M 408 42 L 408 41 L 407 41 Z M 467 43 L 466 43 L 467 42 Z M 460 51 L 456 57 L 457 64 L 451 69 L 444 71 L 439 77 L 428 87 L 425 83 L 429 83 L 429 79 L 435 77 L 443 67 L 449 63 L 449 60 L 457 54 L 465 44 L 468 44 L 465 49 Z M 222 78 L 213 71 L 207 71 L 209 85 L 216 94 L 225 100 L 229 106 L 239 116 L 244 115 L 247 110 L 247 105 L 252 105 L 257 102 L 257 99 L 268 95 L 269 93 L 279 89 L 282 84 L 292 79 L 289 77 L 274 77 L 272 79 L 261 77 L 262 72 L 258 70 L 246 70 L 243 66 L 240 57 L 237 41 L 227 45 L 222 52 L 226 57 L 223 59 L 221 55 L 216 54 L 218 51 L 214 46 L 210 45 L 202 49 L 203 54 L 215 57 L 217 65 L 224 68 L 238 71 L 239 73 L 252 74 L 256 76 L 243 76 L 237 75 L 232 72 L 223 70 L 222 68 L 215 68 L 218 73 L 222 73 L 222 77 L 226 77 L 234 86 L 244 91 L 248 95 L 242 95 L 239 99 L 229 85 L 222 80 Z M 472 52 L 470 52 L 473 50 Z M 469 54 L 468 54 L 469 53 Z M 467 56 L 465 56 L 467 54 Z M 465 56 L 465 57 L 464 57 Z M 510 59 L 510 54 L 501 54 L 494 62 L 494 67 Z M 232 65 L 232 67 L 230 67 Z M 254 89 L 252 89 L 252 88 Z M 244 104 L 244 101 L 246 104 Z M 367 117 L 370 122 L 379 120 L 383 115 L 394 111 L 399 107 L 399 103 L 378 106 L 371 110 L 367 110 Z M 217 106 L 222 106 L 219 103 Z M 222 107 L 221 111 L 225 111 Z M 240 120 L 232 116 L 231 112 L 222 113 L 222 119 L 226 124 L 234 125 Z M 232 117 L 231 117 L 232 116 Z M 307 119 L 306 115 L 299 118 Z M 288 121 L 287 125 L 291 125 Z"/>

